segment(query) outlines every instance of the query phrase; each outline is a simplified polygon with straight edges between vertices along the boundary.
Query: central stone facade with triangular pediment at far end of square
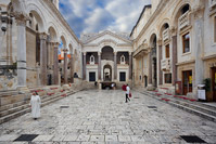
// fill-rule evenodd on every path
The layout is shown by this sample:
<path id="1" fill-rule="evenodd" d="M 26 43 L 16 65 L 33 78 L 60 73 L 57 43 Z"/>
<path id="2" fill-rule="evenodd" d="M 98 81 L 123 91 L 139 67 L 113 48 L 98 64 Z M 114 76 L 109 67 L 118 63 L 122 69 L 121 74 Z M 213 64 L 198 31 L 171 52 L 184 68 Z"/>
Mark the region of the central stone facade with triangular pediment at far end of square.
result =
<path id="1" fill-rule="evenodd" d="M 102 31 L 81 36 L 84 80 L 131 83 L 132 42 L 129 35 Z"/>

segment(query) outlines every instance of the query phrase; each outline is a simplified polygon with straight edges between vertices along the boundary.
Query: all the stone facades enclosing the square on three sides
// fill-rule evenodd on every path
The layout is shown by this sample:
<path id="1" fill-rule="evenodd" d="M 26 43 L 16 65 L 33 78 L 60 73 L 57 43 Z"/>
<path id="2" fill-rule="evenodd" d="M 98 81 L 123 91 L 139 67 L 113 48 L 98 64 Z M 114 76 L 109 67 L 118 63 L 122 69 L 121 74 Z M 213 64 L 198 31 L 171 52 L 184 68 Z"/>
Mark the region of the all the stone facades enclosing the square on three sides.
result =
<path id="1" fill-rule="evenodd" d="M 205 80 L 216 101 L 216 0 L 151 3 L 130 37 L 105 30 L 79 40 L 59 0 L 0 0 L 0 91 L 85 80 L 196 97 Z"/>

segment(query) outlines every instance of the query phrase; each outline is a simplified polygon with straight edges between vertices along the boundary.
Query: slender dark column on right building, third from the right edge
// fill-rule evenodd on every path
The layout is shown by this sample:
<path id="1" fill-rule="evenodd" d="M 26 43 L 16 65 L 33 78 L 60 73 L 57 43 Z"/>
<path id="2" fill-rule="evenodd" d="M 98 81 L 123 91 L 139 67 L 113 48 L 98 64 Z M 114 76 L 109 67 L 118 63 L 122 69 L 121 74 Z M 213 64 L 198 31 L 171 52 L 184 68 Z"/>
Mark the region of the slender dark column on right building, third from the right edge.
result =
<path id="1" fill-rule="evenodd" d="M 158 84 L 163 84 L 163 71 L 162 71 L 162 40 L 157 41 L 158 45 Z"/>

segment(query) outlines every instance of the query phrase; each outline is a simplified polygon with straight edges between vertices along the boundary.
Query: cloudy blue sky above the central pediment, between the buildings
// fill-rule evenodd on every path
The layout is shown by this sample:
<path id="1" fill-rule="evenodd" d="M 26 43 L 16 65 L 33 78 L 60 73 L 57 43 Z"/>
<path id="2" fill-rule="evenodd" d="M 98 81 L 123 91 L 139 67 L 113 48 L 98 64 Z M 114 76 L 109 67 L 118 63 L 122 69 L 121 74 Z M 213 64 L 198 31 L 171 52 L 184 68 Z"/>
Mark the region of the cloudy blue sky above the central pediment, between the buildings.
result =
<path id="1" fill-rule="evenodd" d="M 151 0 L 60 0 L 60 12 L 74 32 L 130 32 Z"/>

